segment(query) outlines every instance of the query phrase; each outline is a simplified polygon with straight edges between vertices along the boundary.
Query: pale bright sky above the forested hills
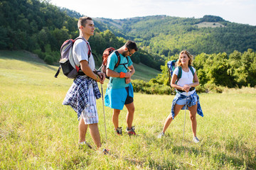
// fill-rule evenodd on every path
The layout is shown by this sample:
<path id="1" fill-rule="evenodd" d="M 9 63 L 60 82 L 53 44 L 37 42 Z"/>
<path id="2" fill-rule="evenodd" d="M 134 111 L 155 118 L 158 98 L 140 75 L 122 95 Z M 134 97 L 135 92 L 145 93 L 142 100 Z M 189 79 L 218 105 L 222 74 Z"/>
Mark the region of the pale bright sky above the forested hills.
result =
<path id="1" fill-rule="evenodd" d="M 155 15 L 202 18 L 212 15 L 232 23 L 256 26 L 255 0 L 50 0 L 50 3 L 92 18 Z"/>

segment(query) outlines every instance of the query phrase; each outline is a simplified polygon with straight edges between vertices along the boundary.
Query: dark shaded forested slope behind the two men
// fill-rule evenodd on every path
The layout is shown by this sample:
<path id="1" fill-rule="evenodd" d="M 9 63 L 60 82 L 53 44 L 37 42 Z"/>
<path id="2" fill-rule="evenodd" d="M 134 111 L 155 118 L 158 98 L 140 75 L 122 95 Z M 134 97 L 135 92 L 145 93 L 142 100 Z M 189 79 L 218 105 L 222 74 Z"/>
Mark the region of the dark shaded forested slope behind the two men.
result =
<path id="1" fill-rule="evenodd" d="M 60 58 L 62 43 L 78 37 L 79 17 L 80 13 L 58 8 L 48 1 L 1 1 L 0 50 L 28 50 L 36 53 L 48 64 L 54 64 Z M 92 52 L 98 57 L 96 62 L 100 64 L 102 52 L 107 47 L 121 47 L 127 40 L 114 35 L 104 24 L 95 21 L 95 26 L 95 35 L 89 42 Z M 164 60 L 156 61 L 156 57 L 142 49 L 132 58 L 135 63 L 142 62 L 159 70 L 161 64 L 164 64 Z"/>

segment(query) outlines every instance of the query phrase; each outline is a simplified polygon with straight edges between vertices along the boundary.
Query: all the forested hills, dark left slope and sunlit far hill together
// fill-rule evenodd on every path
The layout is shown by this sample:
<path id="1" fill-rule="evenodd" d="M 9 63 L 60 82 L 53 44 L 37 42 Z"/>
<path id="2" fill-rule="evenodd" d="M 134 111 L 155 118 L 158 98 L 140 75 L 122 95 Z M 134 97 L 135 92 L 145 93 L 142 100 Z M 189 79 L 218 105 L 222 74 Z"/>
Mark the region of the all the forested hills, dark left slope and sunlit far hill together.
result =
<path id="1" fill-rule="evenodd" d="M 48 64 L 57 63 L 62 43 L 79 35 L 80 16 L 49 1 L 1 1 L 0 50 L 28 50 Z M 159 70 L 165 60 L 184 49 L 195 56 L 202 52 L 229 55 L 235 50 L 256 50 L 255 26 L 230 23 L 219 16 L 94 18 L 94 22 L 95 35 L 89 41 L 98 57 L 97 64 L 107 47 L 121 47 L 126 40 L 134 40 L 140 47 L 132 57 L 133 62 Z"/>

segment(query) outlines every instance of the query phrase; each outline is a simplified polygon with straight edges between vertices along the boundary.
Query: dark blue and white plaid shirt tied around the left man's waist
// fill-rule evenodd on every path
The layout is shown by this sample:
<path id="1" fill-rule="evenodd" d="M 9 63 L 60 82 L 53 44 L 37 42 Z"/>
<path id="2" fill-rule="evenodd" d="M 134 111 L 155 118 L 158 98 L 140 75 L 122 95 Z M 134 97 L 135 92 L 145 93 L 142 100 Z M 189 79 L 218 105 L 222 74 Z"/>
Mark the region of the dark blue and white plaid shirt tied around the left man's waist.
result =
<path id="1" fill-rule="evenodd" d="M 92 84 L 95 97 L 101 97 L 100 89 L 97 82 L 90 77 L 78 76 L 74 79 L 72 86 L 66 94 L 63 105 L 71 106 L 76 113 L 78 113 L 78 120 L 82 111 L 89 105 L 89 85 Z"/>

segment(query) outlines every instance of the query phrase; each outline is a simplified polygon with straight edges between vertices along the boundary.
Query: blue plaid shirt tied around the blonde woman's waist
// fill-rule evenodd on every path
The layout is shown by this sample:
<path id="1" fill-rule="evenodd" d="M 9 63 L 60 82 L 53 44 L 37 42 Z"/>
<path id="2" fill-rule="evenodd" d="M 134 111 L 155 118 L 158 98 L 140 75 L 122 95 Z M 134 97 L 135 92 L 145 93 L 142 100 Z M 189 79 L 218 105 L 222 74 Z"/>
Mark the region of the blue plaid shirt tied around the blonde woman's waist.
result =
<path id="1" fill-rule="evenodd" d="M 196 91 L 195 91 L 195 93 L 191 94 L 190 96 L 184 96 L 183 94 L 180 94 L 180 93 L 176 94 L 176 96 L 174 97 L 174 100 L 171 104 L 171 116 L 173 119 L 174 119 L 174 115 L 175 115 L 174 114 L 174 106 L 176 105 L 176 101 L 187 97 L 187 106 L 191 107 L 191 106 L 196 105 L 196 100 L 195 100 L 195 98 L 193 98 L 193 96 L 196 96 L 197 102 L 198 102 L 197 113 L 198 113 L 198 115 L 201 115 L 203 117 L 203 111 L 202 111 L 202 108 L 200 105 L 199 96 L 198 96 L 198 94 L 196 94 Z M 181 110 L 185 110 L 185 109 L 188 110 L 188 107 L 186 108 L 186 105 L 185 105 L 181 108 Z"/>

